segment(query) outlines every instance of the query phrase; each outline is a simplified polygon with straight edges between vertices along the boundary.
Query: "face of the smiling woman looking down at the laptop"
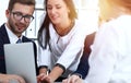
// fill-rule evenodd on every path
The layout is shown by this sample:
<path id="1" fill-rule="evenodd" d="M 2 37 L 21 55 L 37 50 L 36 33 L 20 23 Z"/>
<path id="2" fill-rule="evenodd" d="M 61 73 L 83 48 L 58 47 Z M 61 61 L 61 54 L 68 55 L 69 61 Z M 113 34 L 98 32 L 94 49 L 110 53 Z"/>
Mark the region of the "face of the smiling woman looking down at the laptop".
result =
<path id="1" fill-rule="evenodd" d="M 69 20 L 69 12 L 70 10 L 63 0 L 47 1 L 47 13 L 53 24 L 60 24 Z"/>

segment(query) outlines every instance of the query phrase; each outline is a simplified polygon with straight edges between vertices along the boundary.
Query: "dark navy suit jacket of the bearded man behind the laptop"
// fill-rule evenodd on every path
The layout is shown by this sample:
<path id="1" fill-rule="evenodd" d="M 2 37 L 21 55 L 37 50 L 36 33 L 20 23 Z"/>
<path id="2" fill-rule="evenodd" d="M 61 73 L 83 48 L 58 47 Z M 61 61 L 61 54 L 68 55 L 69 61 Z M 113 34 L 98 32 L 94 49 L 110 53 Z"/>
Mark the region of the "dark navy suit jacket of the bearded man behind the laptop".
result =
<path id="1" fill-rule="evenodd" d="M 36 61 L 36 55 L 37 55 L 37 48 L 36 48 L 36 44 L 23 36 L 22 38 L 22 42 L 23 43 L 27 43 L 27 42 L 32 42 L 34 44 L 34 52 L 35 52 L 35 64 L 36 64 L 36 70 L 37 70 L 37 61 Z M 5 73 L 5 61 L 4 61 L 4 49 L 3 49 L 3 45 L 4 44 L 10 44 L 10 40 L 9 40 L 9 36 L 8 36 L 8 33 L 5 31 L 5 26 L 4 24 L 0 27 L 0 73 Z"/>

